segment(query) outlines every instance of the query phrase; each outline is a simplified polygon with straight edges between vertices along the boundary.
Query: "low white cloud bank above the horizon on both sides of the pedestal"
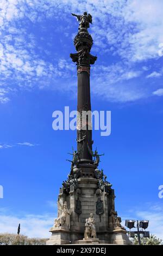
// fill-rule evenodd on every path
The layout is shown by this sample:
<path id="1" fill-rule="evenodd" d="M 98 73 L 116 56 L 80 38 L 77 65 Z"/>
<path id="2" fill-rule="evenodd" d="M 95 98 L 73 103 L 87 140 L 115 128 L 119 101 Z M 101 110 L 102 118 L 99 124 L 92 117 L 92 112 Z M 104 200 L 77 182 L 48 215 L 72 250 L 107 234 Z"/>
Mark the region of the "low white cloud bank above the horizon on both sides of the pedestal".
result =
<path id="1" fill-rule="evenodd" d="M 51 204 L 49 204 L 49 206 L 54 207 L 54 205 Z M 163 239 L 162 204 L 148 203 L 144 204 L 144 206 L 148 210 L 146 210 L 145 207 L 143 207 L 143 209 L 142 207 L 139 207 L 139 210 L 126 212 L 126 216 L 122 217 L 122 224 L 124 225 L 125 219 L 148 219 L 148 230 L 150 233 Z M 55 212 L 56 210 L 57 207 Z M 18 223 L 21 223 L 21 234 L 29 237 L 48 238 L 51 236 L 48 230 L 52 227 L 56 217 L 57 213 L 54 213 L 54 216 L 49 214 L 24 214 L 23 216 L 18 216 L 13 213 L 10 214 L 8 209 L 0 209 L 0 230 L 1 233 L 16 233 Z"/>

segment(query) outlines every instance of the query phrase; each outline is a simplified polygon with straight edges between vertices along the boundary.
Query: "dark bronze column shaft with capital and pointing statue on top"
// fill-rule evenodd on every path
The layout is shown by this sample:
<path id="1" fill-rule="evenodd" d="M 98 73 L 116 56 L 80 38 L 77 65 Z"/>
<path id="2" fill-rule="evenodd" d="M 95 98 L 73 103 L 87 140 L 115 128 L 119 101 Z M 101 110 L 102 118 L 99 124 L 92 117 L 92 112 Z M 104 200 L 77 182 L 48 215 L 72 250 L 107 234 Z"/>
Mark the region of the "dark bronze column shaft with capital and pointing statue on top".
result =
<path id="1" fill-rule="evenodd" d="M 92 124 L 91 118 L 83 113 L 91 111 L 91 96 L 90 96 L 90 64 L 94 64 L 97 57 L 90 54 L 93 40 L 88 33 L 87 28 L 89 23 L 92 23 L 92 17 L 86 12 L 83 15 L 77 16 L 79 20 L 79 31 L 74 38 L 74 45 L 77 53 L 71 53 L 70 57 L 73 62 L 77 63 L 78 74 L 78 106 L 79 113 L 77 120 L 77 144 L 78 152 L 82 151 L 79 156 L 79 163 L 92 163 L 92 156 L 89 152 L 92 150 Z M 83 112 L 84 111 L 84 112 Z M 89 112 L 87 112 L 89 114 Z M 89 146 L 89 147 L 88 147 Z"/>

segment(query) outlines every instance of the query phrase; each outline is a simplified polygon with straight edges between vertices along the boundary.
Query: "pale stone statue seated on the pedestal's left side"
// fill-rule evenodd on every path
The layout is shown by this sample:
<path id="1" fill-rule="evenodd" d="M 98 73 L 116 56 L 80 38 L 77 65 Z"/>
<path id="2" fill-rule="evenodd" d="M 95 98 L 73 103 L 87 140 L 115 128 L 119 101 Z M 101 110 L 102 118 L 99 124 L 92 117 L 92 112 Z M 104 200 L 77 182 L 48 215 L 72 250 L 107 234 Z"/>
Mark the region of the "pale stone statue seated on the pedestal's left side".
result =
<path id="1" fill-rule="evenodd" d="M 58 216 L 57 219 L 55 219 L 54 228 L 58 228 L 58 227 L 62 227 L 62 228 L 66 228 L 66 229 L 70 229 L 70 211 L 67 208 L 67 202 L 64 203 L 63 206 L 61 206 L 60 204 L 59 206 L 59 210 L 61 211 L 61 214 Z"/>

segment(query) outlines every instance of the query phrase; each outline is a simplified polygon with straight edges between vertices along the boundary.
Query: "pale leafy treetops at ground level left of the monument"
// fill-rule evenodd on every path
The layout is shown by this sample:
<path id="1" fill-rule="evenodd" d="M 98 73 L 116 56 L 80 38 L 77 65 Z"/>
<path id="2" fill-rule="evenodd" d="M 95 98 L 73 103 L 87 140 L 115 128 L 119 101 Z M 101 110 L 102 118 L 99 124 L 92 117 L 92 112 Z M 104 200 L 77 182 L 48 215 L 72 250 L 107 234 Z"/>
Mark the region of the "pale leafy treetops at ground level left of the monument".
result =
<path id="1" fill-rule="evenodd" d="M 24 235 L 0 234 L 0 245 L 46 245 L 47 239 L 29 238 Z"/>

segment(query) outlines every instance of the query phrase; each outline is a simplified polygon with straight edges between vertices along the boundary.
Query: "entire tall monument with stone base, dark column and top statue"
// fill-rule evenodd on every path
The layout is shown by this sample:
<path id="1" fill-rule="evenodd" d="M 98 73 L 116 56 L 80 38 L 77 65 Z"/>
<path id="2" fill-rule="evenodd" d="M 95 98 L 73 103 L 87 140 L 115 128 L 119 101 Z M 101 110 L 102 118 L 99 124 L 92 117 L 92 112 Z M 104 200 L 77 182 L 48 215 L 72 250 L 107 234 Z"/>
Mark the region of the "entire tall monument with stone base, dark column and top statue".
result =
<path id="1" fill-rule="evenodd" d="M 54 220 L 47 245 L 80 243 L 106 243 L 129 245 L 127 231 L 121 225 L 121 217 L 115 210 L 115 193 L 107 181 L 103 169 L 99 170 L 100 157 L 93 151 L 92 123 L 83 112 L 91 111 L 90 68 L 97 57 L 91 55 L 93 39 L 88 32 L 92 16 L 72 14 L 79 21 L 78 34 L 74 38 L 76 53 L 70 57 L 77 66 L 78 117 L 77 150 L 72 159 L 70 174 L 62 182 L 58 195 L 58 217 Z"/>

